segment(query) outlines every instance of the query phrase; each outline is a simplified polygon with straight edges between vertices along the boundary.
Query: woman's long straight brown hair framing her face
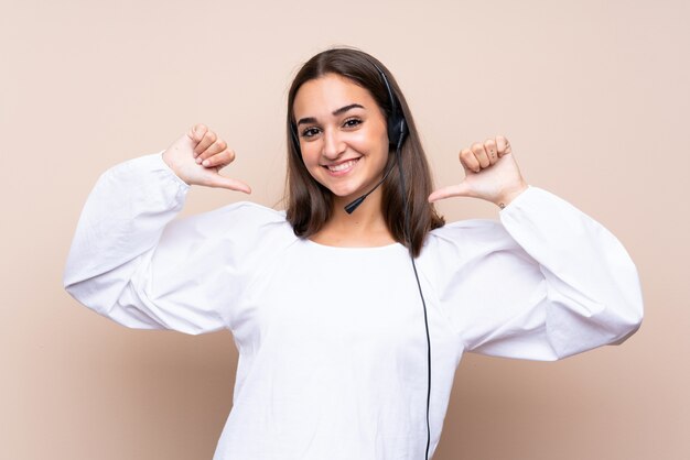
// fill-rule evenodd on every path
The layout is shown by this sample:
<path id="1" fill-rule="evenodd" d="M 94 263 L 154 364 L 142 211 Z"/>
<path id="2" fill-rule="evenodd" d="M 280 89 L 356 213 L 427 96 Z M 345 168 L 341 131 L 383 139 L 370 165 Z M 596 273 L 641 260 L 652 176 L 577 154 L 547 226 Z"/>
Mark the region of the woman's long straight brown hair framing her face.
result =
<path id="1" fill-rule="evenodd" d="M 401 196 L 400 175 L 393 171 L 381 185 L 381 212 L 388 230 L 399 243 L 410 248 L 413 256 L 421 252 L 424 238 L 430 230 L 442 227 L 445 222 L 427 197 L 433 189 L 431 173 L 424 150 L 421 145 L 414 120 L 405 96 L 390 72 L 373 56 L 354 48 L 332 48 L 316 54 L 298 72 L 288 94 L 288 177 L 287 177 L 287 218 L 294 233 L 309 238 L 323 228 L 333 212 L 333 194 L 317 183 L 304 166 L 301 153 L 293 143 L 294 97 L 306 81 L 325 74 L 336 74 L 348 78 L 369 91 L 376 103 L 390 117 L 392 107 L 386 84 L 379 70 L 386 75 L 390 89 L 397 98 L 405 116 L 409 134 L 402 144 L 400 158 L 407 205 L 410 217 L 410 243 L 405 238 L 405 207 Z M 396 162 L 395 146 L 390 146 L 386 169 Z"/>

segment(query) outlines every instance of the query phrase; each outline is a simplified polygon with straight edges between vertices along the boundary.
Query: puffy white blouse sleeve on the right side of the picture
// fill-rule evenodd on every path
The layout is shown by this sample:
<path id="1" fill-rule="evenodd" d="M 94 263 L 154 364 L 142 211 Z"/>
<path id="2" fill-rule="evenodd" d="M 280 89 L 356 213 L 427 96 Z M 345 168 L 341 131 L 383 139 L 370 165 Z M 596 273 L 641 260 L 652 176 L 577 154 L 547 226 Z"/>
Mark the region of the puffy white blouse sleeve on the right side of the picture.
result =
<path id="1" fill-rule="evenodd" d="M 431 283 L 465 350 L 550 361 L 638 329 L 637 270 L 601 223 L 533 186 L 499 217 L 446 226 L 432 242 L 443 255 Z"/>

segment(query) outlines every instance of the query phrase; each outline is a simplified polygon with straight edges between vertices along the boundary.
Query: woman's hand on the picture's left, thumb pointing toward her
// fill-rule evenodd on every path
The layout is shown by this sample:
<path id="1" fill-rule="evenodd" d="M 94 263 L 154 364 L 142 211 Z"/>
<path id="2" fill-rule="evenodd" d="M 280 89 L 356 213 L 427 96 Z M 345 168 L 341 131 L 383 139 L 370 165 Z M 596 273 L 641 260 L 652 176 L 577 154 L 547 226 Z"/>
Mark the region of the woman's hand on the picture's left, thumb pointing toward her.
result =
<path id="1" fill-rule="evenodd" d="M 235 152 L 204 124 L 195 124 L 163 152 L 163 161 L 188 185 L 203 185 L 251 193 L 241 180 L 222 176 L 218 172 L 233 163 Z"/>

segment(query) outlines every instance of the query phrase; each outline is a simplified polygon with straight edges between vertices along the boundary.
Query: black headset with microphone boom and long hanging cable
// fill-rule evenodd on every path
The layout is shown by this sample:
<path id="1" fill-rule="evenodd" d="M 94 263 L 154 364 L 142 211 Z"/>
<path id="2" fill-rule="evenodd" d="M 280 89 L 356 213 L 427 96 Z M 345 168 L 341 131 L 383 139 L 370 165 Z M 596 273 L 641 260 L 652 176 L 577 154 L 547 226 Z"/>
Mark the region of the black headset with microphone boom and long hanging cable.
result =
<path id="1" fill-rule="evenodd" d="M 427 318 L 427 302 L 424 300 L 424 294 L 422 293 L 422 286 L 421 283 L 419 281 L 419 274 L 417 272 L 417 264 L 414 263 L 414 256 L 412 255 L 412 241 L 411 241 L 411 237 L 410 237 L 410 207 L 408 206 L 408 198 L 407 198 L 407 187 L 405 184 L 405 174 L 402 172 L 402 158 L 401 158 L 401 149 L 402 149 L 402 143 L 405 142 L 406 138 L 409 134 L 409 130 L 408 130 L 408 123 L 407 120 L 405 119 L 405 113 L 402 112 L 402 107 L 399 103 L 398 99 L 393 96 L 393 91 L 390 88 L 390 84 L 388 83 L 388 78 L 386 78 L 386 74 L 384 73 L 384 70 L 381 70 L 381 68 L 376 65 L 374 62 L 370 62 L 371 65 L 374 67 L 376 67 L 376 70 L 378 72 L 378 74 L 381 77 L 381 80 L 384 81 L 384 84 L 386 85 L 386 90 L 388 91 L 388 98 L 390 100 L 390 113 L 387 117 L 387 127 L 388 127 L 388 142 L 391 146 L 395 146 L 395 152 L 396 152 L 396 162 L 391 165 L 391 167 L 388 168 L 388 171 L 386 171 L 386 173 L 384 174 L 384 177 L 378 182 L 378 184 L 376 184 L 374 186 L 374 188 L 371 188 L 369 191 L 367 191 L 366 194 L 364 194 L 363 196 L 360 196 L 359 198 L 355 199 L 354 201 L 352 201 L 351 204 L 348 204 L 347 206 L 345 206 L 345 211 L 347 211 L 347 213 L 352 213 L 355 209 L 357 209 L 357 207 L 362 204 L 362 201 L 364 201 L 364 199 L 369 196 L 369 194 L 371 194 L 371 191 L 376 190 L 378 188 L 379 185 L 381 185 L 384 183 L 384 180 L 386 180 L 386 178 L 388 177 L 388 174 L 390 174 L 390 172 L 393 169 L 395 164 L 398 164 L 398 172 L 400 174 L 400 194 L 402 195 L 402 206 L 405 208 L 405 240 L 406 240 L 406 245 L 408 245 L 408 250 L 409 250 L 409 254 L 410 254 L 410 261 L 412 262 L 412 269 L 414 271 L 414 278 L 417 280 L 417 287 L 419 289 L 419 296 L 422 300 L 422 307 L 424 309 L 424 326 L 425 326 L 425 330 L 427 330 L 427 359 L 428 359 L 428 366 L 427 366 L 427 376 L 428 376 L 428 384 L 427 384 L 427 451 L 424 454 L 424 459 L 429 460 L 429 447 L 431 443 L 431 429 L 429 426 L 429 403 L 431 401 L 431 338 L 429 336 L 429 321 Z M 294 124 L 294 122 L 290 123 L 290 131 L 292 133 L 292 143 L 294 146 L 294 151 L 301 155 L 301 150 L 300 150 L 300 139 L 298 136 L 298 130 L 297 130 L 297 125 Z"/>

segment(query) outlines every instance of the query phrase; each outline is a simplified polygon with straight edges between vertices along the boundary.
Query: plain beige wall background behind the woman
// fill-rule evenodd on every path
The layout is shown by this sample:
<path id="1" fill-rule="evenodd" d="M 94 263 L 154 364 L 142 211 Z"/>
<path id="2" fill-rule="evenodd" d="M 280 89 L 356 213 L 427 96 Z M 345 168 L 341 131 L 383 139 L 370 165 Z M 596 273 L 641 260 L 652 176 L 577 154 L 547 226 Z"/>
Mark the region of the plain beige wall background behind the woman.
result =
<path id="1" fill-rule="evenodd" d="M 0 458 L 211 459 L 231 406 L 229 333 L 128 330 L 62 288 L 98 175 L 194 122 L 272 206 L 287 89 L 335 44 L 386 63 L 440 185 L 506 135 L 532 185 L 612 230 L 646 319 L 557 363 L 466 355 L 435 460 L 690 458 L 689 2 L 0 1 Z M 191 191 L 184 213 L 242 198 Z M 487 202 L 449 220 L 497 218 Z"/>

